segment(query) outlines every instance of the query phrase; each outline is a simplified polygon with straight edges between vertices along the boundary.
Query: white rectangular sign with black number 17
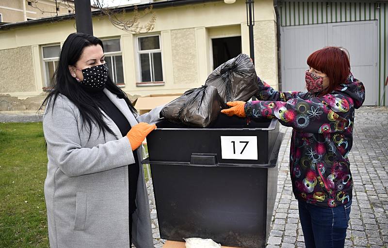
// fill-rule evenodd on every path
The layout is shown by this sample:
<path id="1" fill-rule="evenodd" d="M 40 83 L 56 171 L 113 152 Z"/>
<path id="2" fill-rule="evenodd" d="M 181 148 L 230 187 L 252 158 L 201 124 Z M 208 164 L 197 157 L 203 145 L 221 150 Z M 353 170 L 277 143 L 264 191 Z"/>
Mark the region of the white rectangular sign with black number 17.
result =
<path id="1" fill-rule="evenodd" d="M 258 160 L 257 136 L 221 136 L 223 159 Z"/>

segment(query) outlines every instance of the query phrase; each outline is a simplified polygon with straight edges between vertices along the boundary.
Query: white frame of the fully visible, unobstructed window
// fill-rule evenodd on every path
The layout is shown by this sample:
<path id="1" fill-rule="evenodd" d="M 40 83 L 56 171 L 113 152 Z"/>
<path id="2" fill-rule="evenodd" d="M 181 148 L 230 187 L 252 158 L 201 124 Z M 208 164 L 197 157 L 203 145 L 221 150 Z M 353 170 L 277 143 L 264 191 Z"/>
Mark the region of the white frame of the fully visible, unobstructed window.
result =
<path id="1" fill-rule="evenodd" d="M 152 37 L 152 36 L 158 36 L 159 37 L 159 49 L 151 49 L 151 50 L 140 50 L 140 43 L 139 43 L 139 38 L 145 38 L 145 37 Z M 161 35 L 160 34 L 148 34 L 148 35 L 141 35 L 141 36 L 136 36 L 136 57 L 137 57 L 137 62 L 138 62 L 138 66 L 137 66 L 137 70 L 138 70 L 138 82 L 136 82 L 136 86 L 162 86 L 164 85 L 164 71 L 163 71 L 163 52 L 162 52 L 162 39 L 161 39 Z M 154 70 L 151 68 L 152 70 L 152 74 L 151 74 L 151 70 L 150 70 L 150 76 L 151 76 L 151 81 L 150 82 L 142 82 L 142 68 L 141 68 L 141 62 L 140 62 L 140 54 L 145 54 L 145 53 L 148 53 L 149 54 L 149 65 L 152 67 L 152 63 L 151 63 L 151 53 L 153 52 L 160 52 L 161 53 L 161 58 L 162 58 L 162 75 L 163 75 L 163 78 L 162 78 L 162 81 L 154 81 L 153 79 L 155 78 L 155 73 L 154 73 Z"/>

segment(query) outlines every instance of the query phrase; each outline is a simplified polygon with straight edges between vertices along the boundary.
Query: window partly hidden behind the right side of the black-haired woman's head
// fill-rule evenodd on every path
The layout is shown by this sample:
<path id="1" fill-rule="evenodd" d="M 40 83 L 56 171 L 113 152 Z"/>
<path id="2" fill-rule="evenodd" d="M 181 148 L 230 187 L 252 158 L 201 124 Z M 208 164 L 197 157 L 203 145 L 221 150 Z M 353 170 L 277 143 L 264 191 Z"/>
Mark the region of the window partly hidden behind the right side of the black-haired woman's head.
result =
<path id="1" fill-rule="evenodd" d="M 103 40 L 105 62 L 109 68 L 109 76 L 118 85 L 124 84 L 123 57 L 121 55 L 120 39 Z"/>

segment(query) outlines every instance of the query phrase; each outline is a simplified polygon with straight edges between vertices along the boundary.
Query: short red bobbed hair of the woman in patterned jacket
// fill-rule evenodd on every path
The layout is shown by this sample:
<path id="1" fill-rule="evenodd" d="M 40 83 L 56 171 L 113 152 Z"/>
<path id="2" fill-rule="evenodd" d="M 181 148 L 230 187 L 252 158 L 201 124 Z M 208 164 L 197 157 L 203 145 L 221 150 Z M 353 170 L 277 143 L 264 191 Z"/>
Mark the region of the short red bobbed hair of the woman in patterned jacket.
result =
<path id="1" fill-rule="evenodd" d="M 341 47 L 323 47 L 310 54 L 307 64 L 323 72 L 329 78 L 329 87 L 323 95 L 332 92 L 339 84 L 345 83 L 350 73 L 349 57 Z"/>

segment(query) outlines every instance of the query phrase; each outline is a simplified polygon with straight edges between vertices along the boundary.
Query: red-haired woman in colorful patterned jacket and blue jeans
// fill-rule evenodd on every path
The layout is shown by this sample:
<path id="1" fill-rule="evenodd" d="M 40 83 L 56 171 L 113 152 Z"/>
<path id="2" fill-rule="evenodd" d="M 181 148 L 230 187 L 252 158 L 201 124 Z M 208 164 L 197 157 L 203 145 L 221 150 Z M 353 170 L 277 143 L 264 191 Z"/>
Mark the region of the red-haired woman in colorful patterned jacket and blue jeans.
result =
<path id="1" fill-rule="evenodd" d="M 277 118 L 292 127 L 290 175 L 307 248 L 343 248 L 352 204 L 348 154 L 365 88 L 344 48 L 307 58 L 307 92 L 277 92 L 258 78 L 260 101 L 228 102 L 228 116 Z"/>

